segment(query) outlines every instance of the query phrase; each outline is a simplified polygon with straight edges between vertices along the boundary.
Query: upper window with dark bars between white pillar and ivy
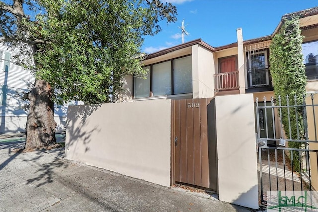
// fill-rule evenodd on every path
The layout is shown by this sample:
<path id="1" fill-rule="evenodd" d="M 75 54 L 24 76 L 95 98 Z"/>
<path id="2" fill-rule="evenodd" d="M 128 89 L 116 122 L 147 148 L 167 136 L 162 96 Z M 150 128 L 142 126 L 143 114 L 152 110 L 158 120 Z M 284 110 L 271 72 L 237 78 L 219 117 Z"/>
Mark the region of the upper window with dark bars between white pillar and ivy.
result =
<path id="1" fill-rule="evenodd" d="M 249 53 L 248 66 L 250 87 L 269 85 L 267 51 Z"/>

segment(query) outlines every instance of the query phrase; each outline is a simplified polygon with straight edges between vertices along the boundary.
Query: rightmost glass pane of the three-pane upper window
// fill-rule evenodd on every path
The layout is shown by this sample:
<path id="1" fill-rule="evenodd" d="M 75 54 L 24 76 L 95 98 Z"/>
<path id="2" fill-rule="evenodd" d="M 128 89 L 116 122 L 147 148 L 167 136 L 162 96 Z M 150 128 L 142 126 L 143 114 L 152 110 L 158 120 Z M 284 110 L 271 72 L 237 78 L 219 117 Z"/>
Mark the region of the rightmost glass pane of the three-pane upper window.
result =
<path id="1" fill-rule="evenodd" d="M 174 60 L 174 94 L 192 93 L 192 57 Z"/>

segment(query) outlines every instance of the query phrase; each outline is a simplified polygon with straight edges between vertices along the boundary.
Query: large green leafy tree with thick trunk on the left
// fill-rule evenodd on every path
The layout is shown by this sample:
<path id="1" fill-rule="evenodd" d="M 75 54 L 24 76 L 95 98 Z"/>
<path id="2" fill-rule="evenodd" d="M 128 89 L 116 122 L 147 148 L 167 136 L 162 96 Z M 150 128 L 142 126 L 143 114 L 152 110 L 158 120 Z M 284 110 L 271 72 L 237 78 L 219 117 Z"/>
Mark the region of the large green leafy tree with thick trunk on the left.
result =
<path id="1" fill-rule="evenodd" d="M 107 103 L 119 98 L 125 75 L 143 76 L 143 36 L 176 21 L 176 7 L 159 0 L 12 0 L 0 2 L 0 41 L 30 55 L 21 62 L 36 80 L 26 149 L 55 144 L 53 103 Z M 23 56 L 22 56 L 23 55 Z"/>

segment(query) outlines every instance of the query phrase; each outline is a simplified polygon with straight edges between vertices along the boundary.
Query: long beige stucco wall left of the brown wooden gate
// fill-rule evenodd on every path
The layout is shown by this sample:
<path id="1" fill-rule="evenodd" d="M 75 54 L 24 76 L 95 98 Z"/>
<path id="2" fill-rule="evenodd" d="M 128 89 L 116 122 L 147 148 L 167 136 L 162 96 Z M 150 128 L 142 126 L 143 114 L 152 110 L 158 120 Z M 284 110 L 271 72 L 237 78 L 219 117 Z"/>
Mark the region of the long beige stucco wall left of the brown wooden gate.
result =
<path id="1" fill-rule="evenodd" d="M 171 100 L 69 106 L 65 157 L 170 186 Z"/>

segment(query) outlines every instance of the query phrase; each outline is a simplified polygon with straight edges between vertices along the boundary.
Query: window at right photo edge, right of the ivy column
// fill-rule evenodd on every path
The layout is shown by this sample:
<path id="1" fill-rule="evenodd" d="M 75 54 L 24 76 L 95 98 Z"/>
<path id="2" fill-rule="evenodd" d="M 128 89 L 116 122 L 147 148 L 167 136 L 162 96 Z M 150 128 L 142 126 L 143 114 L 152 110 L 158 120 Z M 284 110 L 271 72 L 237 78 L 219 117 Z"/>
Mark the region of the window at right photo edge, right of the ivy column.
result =
<path id="1" fill-rule="evenodd" d="M 308 80 L 318 79 L 318 40 L 302 44 L 303 63 Z"/>

